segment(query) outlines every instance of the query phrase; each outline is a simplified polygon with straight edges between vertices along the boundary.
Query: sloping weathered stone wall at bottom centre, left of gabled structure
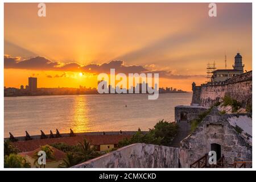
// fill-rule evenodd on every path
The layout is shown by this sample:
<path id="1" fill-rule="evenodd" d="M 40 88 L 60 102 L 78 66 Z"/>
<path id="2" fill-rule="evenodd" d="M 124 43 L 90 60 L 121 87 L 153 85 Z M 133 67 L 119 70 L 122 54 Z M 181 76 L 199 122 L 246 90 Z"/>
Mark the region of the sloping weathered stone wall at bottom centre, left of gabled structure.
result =
<path id="1" fill-rule="evenodd" d="M 73 168 L 178 168 L 179 148 L 135 143 Z"/>

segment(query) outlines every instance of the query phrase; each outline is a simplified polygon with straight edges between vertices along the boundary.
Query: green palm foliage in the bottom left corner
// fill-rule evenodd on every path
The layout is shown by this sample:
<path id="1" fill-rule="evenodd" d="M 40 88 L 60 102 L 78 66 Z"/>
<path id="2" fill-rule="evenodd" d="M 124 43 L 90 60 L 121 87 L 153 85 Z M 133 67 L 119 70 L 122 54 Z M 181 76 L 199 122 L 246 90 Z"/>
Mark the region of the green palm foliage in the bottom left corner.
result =
<path id="1" fill-rule="evenodd" d="M 18 154 L 10 154 L 5 156 L 5 168 L 30 168 L 30 163 Z"/>

